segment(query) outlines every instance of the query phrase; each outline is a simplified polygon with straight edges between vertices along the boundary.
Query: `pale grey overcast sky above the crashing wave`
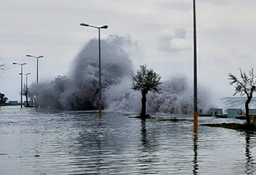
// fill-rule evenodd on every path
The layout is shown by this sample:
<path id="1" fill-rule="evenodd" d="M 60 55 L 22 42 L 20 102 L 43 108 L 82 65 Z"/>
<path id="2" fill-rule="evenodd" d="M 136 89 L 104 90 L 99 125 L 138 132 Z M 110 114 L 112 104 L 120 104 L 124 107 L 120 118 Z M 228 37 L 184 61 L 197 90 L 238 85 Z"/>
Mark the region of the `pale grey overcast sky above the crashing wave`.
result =
<path id="1" fill-rule="evenodd" d="M 110 34 L 138 41 L 131 52 L 134 71 L 147 64 L 162 80 L 185 75 L 193 81 L 192 0 L 0 0 L 0 63 L 9 70 L 0 75 L 0 92 L 9 100 L 20 99 L 21 66 L 30 72 L 28 83 L 57 75 L 69 75 L 72 62 L 91 38 L 94 28 L 108 25 L 101 38 Z M 198 84 L 218 97 L 232 96 L 228 72 L 256 68 L 256 1 L 197 0 Z M 104 59 L 104 55 L 102 55 Z M 24 77 L 25 78 L 25 77 Z M 25 79 L 24 79 L 25 81 Z"/>

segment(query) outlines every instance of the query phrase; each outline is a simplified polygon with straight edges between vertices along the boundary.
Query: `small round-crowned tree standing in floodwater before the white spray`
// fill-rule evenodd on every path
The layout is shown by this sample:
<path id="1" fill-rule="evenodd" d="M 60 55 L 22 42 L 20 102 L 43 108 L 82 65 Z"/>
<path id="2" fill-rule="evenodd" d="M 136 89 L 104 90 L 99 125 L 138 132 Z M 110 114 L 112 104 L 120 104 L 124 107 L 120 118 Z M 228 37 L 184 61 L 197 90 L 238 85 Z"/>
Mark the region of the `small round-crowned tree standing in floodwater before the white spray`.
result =
<path id="1" fill-rule="evenodd" d="M 142 93 L 142 108 L 140 116 L 142 118 L 146 117 L 146 95 L 148 91 L 158 92 L 160 89 L 158 85 L 161 76 L 153 71 L 153 69 L 147 69 L 146 65 L 140 65 L 140 69 L 137 71 L 136 75 L 132 75 L 132 89 L 141 91 Z"/>

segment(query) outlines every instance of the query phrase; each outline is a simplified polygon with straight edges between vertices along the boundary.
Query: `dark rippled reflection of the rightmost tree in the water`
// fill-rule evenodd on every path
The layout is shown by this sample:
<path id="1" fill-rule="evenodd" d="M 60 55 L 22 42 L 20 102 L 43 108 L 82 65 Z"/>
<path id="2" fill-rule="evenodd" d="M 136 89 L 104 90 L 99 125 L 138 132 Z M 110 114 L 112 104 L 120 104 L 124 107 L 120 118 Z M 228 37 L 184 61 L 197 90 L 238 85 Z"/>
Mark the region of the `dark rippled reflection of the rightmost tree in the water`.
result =
<path id="1" fill-rule="evenodd" d="M 245 167 L 246 167 L 246 170 L 245 170 L 245 172 L 247 174 L 254 174 L 254 172 L 255 172 L 254 166 L 253 166 L 253 164 L 254 164 L 253 157 L 251 156 L 251 151 L 250 151 L 251 136 L 252 135 L 250 132 L 246 132 L 246 134 L 245 134 L 245 141 L 246 141 L 246 144 L 245 144 L 245 157 L 246 157 Z"/>

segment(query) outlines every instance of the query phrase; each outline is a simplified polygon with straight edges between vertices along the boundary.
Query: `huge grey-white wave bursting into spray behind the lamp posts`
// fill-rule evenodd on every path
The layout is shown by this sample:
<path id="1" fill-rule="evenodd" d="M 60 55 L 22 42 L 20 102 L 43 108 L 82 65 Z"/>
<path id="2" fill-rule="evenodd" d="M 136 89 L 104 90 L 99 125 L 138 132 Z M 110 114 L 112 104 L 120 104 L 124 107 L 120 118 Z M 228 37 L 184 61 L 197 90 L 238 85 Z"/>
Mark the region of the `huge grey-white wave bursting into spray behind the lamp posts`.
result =
<path id="1" fill-rule="evenodd" d="M 130 36 L 110 35 L 101 40 L 103 108 L 113 112 L 140 112 L 141 94 L 131 89 L 132 60 L 129 52 L 138 49 Z M 47 83 L 31 85 L 38 89 L 38 104 L 62 110 L 96 110 L 99 93 L 98 40 L 91 39 L 77 55 L 70 75 Z M 212 107 L 206 88 L 198 87 L 198 109 Z M 161 84 L 159 93 L 147 95 L 147 112 L 182 113 L 193 111 L 193 88 L 183 75 L 171 76 Z"/>

